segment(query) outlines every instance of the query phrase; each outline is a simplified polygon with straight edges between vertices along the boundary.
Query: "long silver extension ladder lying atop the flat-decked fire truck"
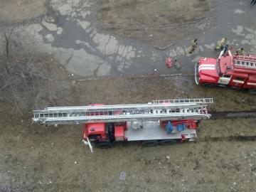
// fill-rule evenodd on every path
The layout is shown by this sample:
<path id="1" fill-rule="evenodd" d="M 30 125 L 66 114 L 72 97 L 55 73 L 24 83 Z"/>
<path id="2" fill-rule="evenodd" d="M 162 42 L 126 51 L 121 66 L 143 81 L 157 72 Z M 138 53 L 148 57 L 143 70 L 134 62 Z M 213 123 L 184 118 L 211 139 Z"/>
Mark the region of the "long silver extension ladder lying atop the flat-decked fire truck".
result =
<path id="1" fill-rule="evenodd" d="M 133 122 L 139 120 L 208 119 L 207 103 L 212 98 L 153 100 L 148 104 L 47 107 L 33 111 L 40 124 L 84 124 L 92 122 Z"/>

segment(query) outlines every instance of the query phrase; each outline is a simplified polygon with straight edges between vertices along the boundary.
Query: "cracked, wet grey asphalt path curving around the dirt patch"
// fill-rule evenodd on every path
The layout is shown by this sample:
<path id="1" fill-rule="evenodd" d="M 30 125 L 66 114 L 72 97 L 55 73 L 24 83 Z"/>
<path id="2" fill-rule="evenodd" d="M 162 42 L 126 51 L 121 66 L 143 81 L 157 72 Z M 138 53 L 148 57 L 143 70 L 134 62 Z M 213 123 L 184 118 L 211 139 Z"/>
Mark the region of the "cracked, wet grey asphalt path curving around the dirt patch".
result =
<path id="1" fill-rule="evenodd" d="M 46 13 L 54 21 L 51 23 L 43 18 L 34 27 L 38 47 L 53 53 L 67 70 L 83 77 L 192 75 L 198 58 L 218 55 L 214 47 L 224 36 L 235 49 L 243 47 L 245 53 L 256 53 L 256 6 L 251 6 L 249 1 L 211 1 L 212 14 L 208 19 L 215 25 L 164 50 L 112 36 L 107 31 L 98 32 L 97 5 L 93 1 L 87 0 L 80 6 L 73 1 L 57 3 L 51 0 L 46 4 Z M 204 24 L 207 22 L 204 21 Z M 188 54 L 193 38 L 198 38 L 198 50 Z M 179 60 L 181 70 L 166 68 L 165 60 L 169 56 Z"/>

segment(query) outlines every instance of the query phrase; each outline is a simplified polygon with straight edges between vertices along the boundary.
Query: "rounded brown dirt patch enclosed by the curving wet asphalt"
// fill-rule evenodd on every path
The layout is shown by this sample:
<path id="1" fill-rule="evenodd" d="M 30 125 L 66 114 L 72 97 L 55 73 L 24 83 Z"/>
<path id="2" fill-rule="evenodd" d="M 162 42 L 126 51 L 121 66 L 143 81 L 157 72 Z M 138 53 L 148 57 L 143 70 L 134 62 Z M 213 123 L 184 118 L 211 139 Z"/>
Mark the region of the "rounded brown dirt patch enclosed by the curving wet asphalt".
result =
<path id="1" fill-rule="evenodd" d="M 99 0 L 103 29 L 125 38 L 166 46 L 212 25 L 207 0 Z"/>

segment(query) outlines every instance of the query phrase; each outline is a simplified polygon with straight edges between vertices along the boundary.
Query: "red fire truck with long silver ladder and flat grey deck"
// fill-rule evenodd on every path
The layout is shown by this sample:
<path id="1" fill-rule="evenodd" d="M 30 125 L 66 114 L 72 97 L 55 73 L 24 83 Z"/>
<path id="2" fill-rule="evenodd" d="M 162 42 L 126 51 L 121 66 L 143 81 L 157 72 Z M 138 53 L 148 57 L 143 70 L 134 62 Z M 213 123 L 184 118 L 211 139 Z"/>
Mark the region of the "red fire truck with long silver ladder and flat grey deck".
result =
<path id="1" fill-rule="evenodd" d="M 83 124 L 83 142 L 99 148 L 114 142 L 142 141 L 144 146 L 196 139 L 201 119 L 210 118 L 212 98 L 154 100 L 147 104 L 47 107 L 33 111 L 39 124 Z"/>

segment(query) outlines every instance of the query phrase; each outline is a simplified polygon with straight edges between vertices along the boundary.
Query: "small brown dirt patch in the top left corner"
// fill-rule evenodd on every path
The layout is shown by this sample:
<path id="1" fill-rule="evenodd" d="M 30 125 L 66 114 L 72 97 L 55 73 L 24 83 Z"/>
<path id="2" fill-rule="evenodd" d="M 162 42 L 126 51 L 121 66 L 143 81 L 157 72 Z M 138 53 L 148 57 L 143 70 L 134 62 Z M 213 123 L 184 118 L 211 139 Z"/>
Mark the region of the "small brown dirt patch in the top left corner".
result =
<path id="1" fill-rule="evenodd" d="M 43 0 L 1 0 L 0 23 L 19 23 L 44 14 Z"/>

